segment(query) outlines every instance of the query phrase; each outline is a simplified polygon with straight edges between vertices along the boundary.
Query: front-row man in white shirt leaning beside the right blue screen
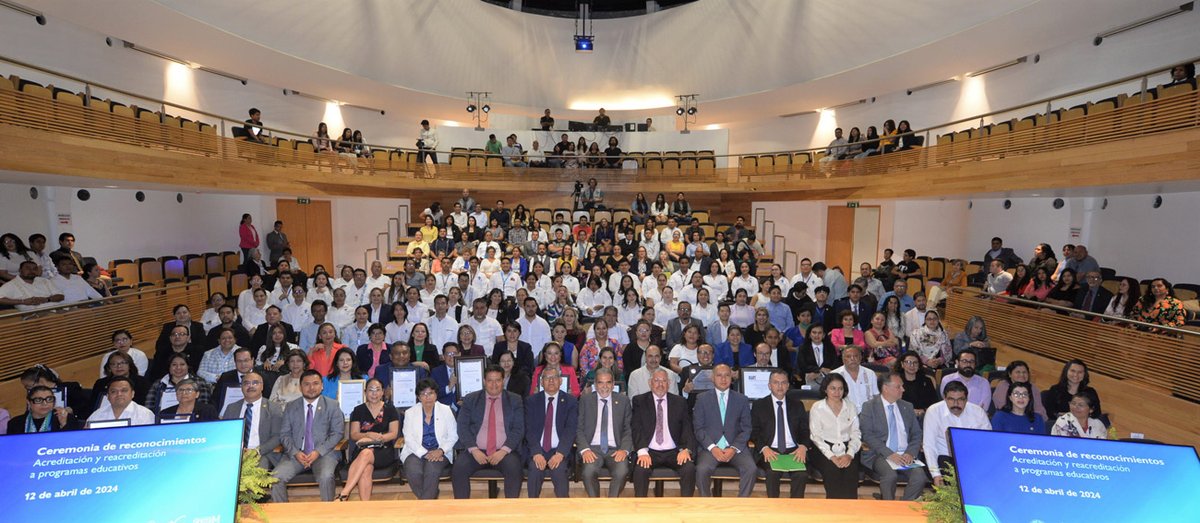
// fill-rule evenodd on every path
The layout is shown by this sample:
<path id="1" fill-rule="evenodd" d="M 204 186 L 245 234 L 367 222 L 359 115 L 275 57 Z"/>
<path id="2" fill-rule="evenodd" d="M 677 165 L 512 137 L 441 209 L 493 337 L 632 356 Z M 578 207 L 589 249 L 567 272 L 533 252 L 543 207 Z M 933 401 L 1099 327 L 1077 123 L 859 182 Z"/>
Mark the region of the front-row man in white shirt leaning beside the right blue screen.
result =
<path id="1" fill-rule="evenodd" d="M 942 486 L 942 467 L 950 462 L 950 446 L 947 432 L 950 427 L 991 429 L 988 413 L 979 405 L 967 402 L 967 386 L 961 381 L 946 384 L 942 391 L 946 399 L 934 403 L 925 410 L 925 425 L 922 427 L 925 451 L 925 467 L 934 476 L 934 485 Z"/>

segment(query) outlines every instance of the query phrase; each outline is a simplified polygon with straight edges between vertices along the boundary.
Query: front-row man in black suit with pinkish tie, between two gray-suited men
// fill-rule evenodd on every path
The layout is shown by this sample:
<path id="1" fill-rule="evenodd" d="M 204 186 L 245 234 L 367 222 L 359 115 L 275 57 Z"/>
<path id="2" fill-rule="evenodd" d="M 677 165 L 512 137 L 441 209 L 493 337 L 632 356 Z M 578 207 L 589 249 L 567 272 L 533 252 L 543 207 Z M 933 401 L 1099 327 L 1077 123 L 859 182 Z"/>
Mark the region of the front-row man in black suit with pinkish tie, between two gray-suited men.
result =
<path id="1" fill-rule="evenodd" d="M 673 469 L 679 474 L 679 492 L 690 498 L 696 489 L 694 452 L 696 434 L 691 428 L 691 413 L 683 397 L 667 393 L 670 374 L 662 368 L 650 377 L 650 391 L 632 399 L 634 495 L 644 498 L 650 488 L 650 473 L 655 467 Z"/>

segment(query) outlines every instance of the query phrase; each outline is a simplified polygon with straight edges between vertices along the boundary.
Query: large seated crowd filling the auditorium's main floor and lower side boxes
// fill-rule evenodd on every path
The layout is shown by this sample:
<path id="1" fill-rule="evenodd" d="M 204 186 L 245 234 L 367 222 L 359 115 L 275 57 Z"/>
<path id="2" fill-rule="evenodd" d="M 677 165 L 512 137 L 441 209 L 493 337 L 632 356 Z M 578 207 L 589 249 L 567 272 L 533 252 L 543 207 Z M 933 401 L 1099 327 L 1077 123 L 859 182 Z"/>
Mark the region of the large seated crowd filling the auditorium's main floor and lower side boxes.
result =
<path id="1" fill-rule="evenodd" d="M 948 332 L 937 300 L 908 293 L 908 278 L 924 276 L 912 250 L 899 262 L 887 250 L 854 279 L 806 258 L 794 275 L 776 264 L 758 278 L 761 246 L 752 247 L 743 220 L 706 238 L 682 193 L 665 212 L 643 212 L 641 230 L 593 227 L 586 215 L 558 216 L 544 229 L 522 205 L 482 211 L 469 191 L 454 209 L 424 210 L 403 271 L 385 275 L 377 262 L 336 277 L 319 265 L 299 270 L 281 222 L 268 236 L 268 265 L 244 217 L 250 288 L 212 293 L 198 317 L 174 307 L 152 354 L 115 331 L 88 391 L 49 368 L 29 369 L 28 411 L 7 431 L 244 419 L 244 445 L 281 480 L 272 489 L 280 501 L 305 470 L 322 499 L 355 489 L 368 499 L 372 474 L 384 467 L 402 470 L 421 499 L 438 497 L 446 475 L 454 495 L 467 498 L 481 469 L 502 475 L 506 497 L 520 495 L 524 477 L 527 494 L 540 495 L 546 476 L 565 497 L 576 469 L 588 495 L 600 495 L 599 477 L 610 477 L 608 495 L 620 495 L 626 481 L 647 495 L 660 468 L 674 470 L 683 495 L 709 495 L 719 467 L 737 471 L 739 495 L 761 476 L 770 497 L 785 479 L 790 495 L 803 497 L 808 476 L 818 474 L 827 497 L 857 498 L 863 471 L 878 480 L 880 498 L 895 499 L 904 480 L 900 497 L 914 499 L 930 477 L 941 482 L 947 427 L 1109 435 L 1082 361 L 1068 362 L 1044 390 L 1021 361 L 985 378 L 996 368 L 985 320 Z M 540 236 L 546 229 L 553 240 Z M 0 269 L 8 305 L 56 303 L 66 290 L 46 294 L 73 288 L 50 287 L 49 269 L 36 260 L 54 263 L 54 278 L 83 278 L 70 235 L 53 253 L 43 238 L 30 239 L 36 248 L 11 234 L 2 240 L 0 259 L 26 258 Z M 979 276 L 995 294 L 1026 296 L 1030 285 L 1030 294 L 1046 285 L 1069 291 L 1084 271 L 1085 287 L 1051 290 L 1045 301 L 1170 325 L 1169 283 L 1156 279 L 1151 299 L 1135 294 L 1136 282 L 1122 282 L 1121 296 L 1104 295 L 1086 248 L 1064 252 L 1070 258 L 1058 263 L 1040 245 L 1024 264 L 995 239 L 992 267 L 1038 276 L 1003 289 L 994 285 L 995 270 Z M 968 277 L 977 276 L 955 263 L 931 294 Z M 462 390 L 460 360 L 482 360 L 481 390 Z M 754 368 L 769 369 L 761 397 L 743 390 L 742 374 Z M 415 373 L 415 404 L 395 405 L 396 371 Z M 346 383 L 364 387 L 348 425 L 337 403 Z M 802 396 L 818 399 L 806 409 Z M 343 439 L 344 456 L 335 449 Z M 347 467 L 341 491 L 338 467 Z"/>

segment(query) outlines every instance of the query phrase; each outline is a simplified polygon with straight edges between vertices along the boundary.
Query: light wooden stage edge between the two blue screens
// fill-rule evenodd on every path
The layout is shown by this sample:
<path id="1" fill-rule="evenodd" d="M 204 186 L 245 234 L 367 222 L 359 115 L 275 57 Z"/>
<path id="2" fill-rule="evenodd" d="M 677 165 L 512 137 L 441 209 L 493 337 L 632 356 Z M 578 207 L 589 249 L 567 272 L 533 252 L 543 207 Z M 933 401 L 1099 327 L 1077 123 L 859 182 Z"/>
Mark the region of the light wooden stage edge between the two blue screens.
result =
<path id="1" fill-rule="evenodd" d="M 714 522 L 738 518 L 805 522 L 924 522 L 914 503 L 862 499 L 767 498 L 565 498 L 437 499 L 266 504 L 272 523 L 384 519 L 415 517 L 425 522 Z M 390 516 L 389 516 L 390 515 Z"/>

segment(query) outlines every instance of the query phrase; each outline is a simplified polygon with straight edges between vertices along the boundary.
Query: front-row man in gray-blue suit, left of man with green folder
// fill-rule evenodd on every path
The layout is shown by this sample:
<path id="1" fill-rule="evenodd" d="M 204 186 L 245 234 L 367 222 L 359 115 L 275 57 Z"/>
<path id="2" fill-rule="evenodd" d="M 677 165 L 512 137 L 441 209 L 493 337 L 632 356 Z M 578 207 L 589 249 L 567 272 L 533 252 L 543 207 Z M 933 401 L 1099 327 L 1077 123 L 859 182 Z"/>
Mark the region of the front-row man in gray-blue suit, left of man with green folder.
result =
<path id="1" fill-rule="evenodd" d="M 757 469 L 750 443 L 750 399 L 731 389 L 733 368 L 721 363 L 713 368 L 713 389 L 702 392 L 692 410 L 696 441 L 706 451 L 696 458 L 696 483 L 700 495 L 713 495 L 712 476 L 716 467 L 730 464 L 738 469 L 738 497 L 749 498 L 754 492 Z"/>

